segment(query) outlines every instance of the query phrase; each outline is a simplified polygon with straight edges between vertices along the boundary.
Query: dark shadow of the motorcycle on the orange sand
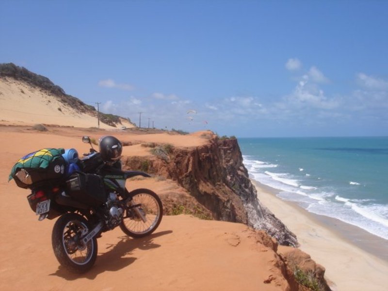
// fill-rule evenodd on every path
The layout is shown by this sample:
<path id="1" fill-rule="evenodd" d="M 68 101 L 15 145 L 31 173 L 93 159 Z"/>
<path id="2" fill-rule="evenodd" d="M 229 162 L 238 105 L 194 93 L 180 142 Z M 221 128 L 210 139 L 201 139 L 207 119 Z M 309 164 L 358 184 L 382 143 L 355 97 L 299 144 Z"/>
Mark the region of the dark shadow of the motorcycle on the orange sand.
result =
<path id="1" fill-rule="evenodd" d="M 137 259 L 134 257 L 128 258 L 124 256 L 131 255 L 134 249 L 149 250 L 158 248 L 161 245 L 154 243 L 153 239 L 170 233 L 172 233 L 172 230 L 155 232 L 147 237 L 140 239 L 133 239 L 128 236 L 120 236 L 118 237 L 120 241 L 116 244 L 107 244 L 105 249 L 110 249 L 109 251 L 98 253 L 95 265 L 85 274 L 70 273 L 61 265 L 59 265 L 58 270 L 55 273 L 49 275 L 59 276 L 65 280 L 72 281 L 79 278 L 94 279 L 98 274 L 101 274 L 105 271 L 118 271 L 129 266 Z M 99 245 L 98 247 L 100 248 L 101 246 Z"/>

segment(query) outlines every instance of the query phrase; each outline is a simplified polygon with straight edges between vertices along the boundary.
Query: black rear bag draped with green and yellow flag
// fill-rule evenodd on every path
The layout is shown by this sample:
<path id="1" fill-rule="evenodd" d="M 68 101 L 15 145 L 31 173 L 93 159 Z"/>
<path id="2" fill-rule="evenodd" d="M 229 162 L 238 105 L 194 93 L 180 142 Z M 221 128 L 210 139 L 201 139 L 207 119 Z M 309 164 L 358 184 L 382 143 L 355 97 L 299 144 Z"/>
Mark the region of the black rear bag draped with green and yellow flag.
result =
<path id="1" fill-rule="evenodd" d="M 63 148 L 44 148 L 24 156 L 12 168 L 9 180 L 14 178 L 21 188 L 34 188 L 64 178 L 64 152 Z"/>

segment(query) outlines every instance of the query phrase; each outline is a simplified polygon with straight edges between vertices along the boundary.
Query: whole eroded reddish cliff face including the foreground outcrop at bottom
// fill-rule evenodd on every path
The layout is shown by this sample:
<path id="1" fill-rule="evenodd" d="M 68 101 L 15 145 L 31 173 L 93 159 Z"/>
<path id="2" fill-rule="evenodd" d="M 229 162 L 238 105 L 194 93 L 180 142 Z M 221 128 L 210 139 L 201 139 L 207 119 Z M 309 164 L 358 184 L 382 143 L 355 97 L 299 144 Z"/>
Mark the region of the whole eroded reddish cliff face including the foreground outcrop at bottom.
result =
<path id="1" fill-rule="evenodd" d="M 258 201 L 256 188 L 242 163 L 237 140 L 219 139 L 215 135 L 207 138 L 206 145 L 193 148 L 154 144 L 150 149 L 152 155 L 123 157 L 123 166 L 176 181 L 190 193 L 190 198 L 194 197 L 201 207 L 211 212 L 213 219 L 239 222 L 254 228 L 246 230 L 248 237 L 256 242 L 257 247 L 268 248 L 262 251 L 273 252 L 272 275 L 264 283 L 279 285 L 286 282 L 284 290 L 310 290 L 298 282 L 295 272 L 299 270 L 314 278 L 319 290 L 330 291 L 324 268 L 308 254 L 290 247 L 298 244 L 296 236 Z M 162 195 L 161 198 L 163 205 L 168 203 Z M 279 250 L 278 244 L 284 246 Z"/>

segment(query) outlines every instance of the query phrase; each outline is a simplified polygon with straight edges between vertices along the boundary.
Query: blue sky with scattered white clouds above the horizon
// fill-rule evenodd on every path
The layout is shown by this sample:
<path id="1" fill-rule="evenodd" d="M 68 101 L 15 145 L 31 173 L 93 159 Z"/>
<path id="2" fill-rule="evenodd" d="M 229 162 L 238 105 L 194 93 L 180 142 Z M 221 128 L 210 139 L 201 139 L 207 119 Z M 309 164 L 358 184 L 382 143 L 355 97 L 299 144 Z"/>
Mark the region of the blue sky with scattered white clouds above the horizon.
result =
<path id="1" fill-rule="evenodd" d="M 388 135 L 385 0 L 0 0 L 0 11 L 0 63 L 137 126 Z"/>

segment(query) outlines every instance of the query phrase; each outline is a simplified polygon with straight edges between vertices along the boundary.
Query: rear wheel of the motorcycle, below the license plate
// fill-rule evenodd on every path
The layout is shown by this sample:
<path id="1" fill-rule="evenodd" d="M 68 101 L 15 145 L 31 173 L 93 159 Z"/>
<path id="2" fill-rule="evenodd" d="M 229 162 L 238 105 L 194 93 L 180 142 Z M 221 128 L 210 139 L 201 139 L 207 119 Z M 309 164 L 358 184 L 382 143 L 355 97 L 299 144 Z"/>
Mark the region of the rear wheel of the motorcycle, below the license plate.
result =
<path id="1" fill-rule="evenodd" d="M 59 263 L 72 273 L 89 271 L 97 258 L 97 239 L 81 243 L 82 232 L 90 231 L 88 221 L 76 213 L 65 213 L 52 229 L 52 248 Z M 87 232 L 87 231 L 86 231 Z"/>

